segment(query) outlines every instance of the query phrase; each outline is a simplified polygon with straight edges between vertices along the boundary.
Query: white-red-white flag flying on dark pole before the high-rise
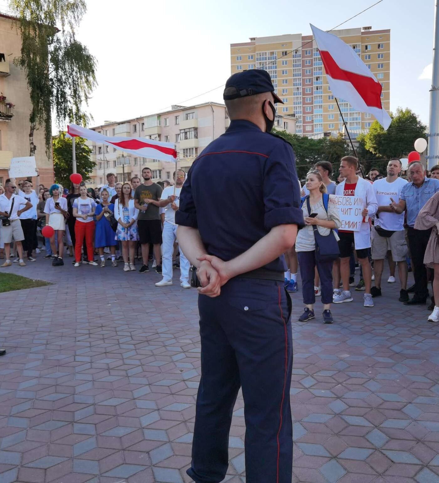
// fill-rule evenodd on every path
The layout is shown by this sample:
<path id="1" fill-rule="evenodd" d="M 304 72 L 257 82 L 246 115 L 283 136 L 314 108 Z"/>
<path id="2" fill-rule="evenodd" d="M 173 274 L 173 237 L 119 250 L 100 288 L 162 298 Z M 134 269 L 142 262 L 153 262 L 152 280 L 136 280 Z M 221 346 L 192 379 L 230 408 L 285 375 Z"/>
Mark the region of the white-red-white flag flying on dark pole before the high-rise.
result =
<path id="1" fill-rule="evenodd" d="M 382 85 L 367 65 L 339 37 L 313 25 L 311 28 L 332 94 L 349 102 L 357 111 L 374 115 L 387 129 L 392 119 L 382 107 Z"/>

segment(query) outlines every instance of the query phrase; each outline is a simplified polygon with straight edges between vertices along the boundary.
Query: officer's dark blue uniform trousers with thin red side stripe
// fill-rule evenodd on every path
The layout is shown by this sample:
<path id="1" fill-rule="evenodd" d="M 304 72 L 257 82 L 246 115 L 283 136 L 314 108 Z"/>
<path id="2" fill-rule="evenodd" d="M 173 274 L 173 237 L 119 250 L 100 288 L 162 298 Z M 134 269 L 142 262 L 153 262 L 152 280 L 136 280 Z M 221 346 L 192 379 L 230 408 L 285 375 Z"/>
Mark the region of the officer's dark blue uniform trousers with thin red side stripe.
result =
<path id="1" fill-rule="evenodd" d="M 235 278 L 217 298 L 198 297 L 201 380 L 192 465 L 197 483 L 221 482 L 240 387 L 247 483 L 291 483 L 291 299 L 283 282 Z"/>

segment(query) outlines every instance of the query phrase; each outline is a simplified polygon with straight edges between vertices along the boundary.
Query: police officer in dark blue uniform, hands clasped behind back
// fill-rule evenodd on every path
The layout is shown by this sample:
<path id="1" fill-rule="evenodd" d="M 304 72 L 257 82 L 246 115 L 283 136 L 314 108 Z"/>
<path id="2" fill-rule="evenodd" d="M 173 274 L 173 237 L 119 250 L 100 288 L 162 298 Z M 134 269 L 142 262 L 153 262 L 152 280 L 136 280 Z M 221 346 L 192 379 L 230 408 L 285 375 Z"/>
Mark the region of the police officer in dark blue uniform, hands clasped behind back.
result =
<path id="1" fill-rule="evenodd" d="M 291 483 L 291 299 L 283 253 L 303 225 L 291 145 L 269 134 L 282 102 L 263 70 L 232 75 L 230 126 L 194 161 L 175 214 L 197 267 L 201 380 L 192 465 L 197 483 L 221 482 L 240 387 L 247 483 Z"/>

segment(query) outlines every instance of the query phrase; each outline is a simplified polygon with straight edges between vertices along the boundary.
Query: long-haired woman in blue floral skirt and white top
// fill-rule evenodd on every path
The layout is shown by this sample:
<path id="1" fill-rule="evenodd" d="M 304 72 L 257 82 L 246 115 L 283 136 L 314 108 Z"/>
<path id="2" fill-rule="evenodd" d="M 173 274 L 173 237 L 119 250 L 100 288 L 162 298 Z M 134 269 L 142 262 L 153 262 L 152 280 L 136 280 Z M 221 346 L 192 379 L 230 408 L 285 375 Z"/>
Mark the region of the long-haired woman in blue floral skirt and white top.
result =
<path id="1" fill-rule="evenodd" d="M 136 270 L 134 266 L 134 253 L 139 240 L 137 231 L 137 217 L 139 210 L 134 206 L 131 197 L 131 185 L 124 183 L 120 198 L 114 203 L 114 218 L 117 220 L 117 240 L 122 241 L 122 256 L 124 257 L 124 271 Z M 128 263 L 129 252 L 129 263 Z"/>

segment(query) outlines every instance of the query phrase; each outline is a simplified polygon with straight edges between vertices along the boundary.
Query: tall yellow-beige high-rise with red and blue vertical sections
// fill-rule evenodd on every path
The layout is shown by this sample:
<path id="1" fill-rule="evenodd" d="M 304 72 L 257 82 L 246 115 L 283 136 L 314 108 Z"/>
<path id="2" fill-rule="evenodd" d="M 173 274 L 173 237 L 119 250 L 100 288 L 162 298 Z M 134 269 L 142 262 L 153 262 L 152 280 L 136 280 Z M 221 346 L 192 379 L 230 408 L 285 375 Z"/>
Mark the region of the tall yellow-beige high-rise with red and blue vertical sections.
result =
<path id="1" fill-rule="evenodd" d="M 332 30 L 361 57 L 382 85 L 382 106 L 390 110 L 390 30 L 371 27 Z M 253 37 L 250 42 L 230 44 L 231 73 L 264 69 L 269 72 L 284 105 L 283 115 L 297 117 L 297 134 L 319 137 L 343 131 L 343 123 L 326 79 L 317 44 L 312 35 L 289 34 Z M 368 132 L 374 117 L 355 111 L 339 99 L 340 110 L 353 137 Z"/>

